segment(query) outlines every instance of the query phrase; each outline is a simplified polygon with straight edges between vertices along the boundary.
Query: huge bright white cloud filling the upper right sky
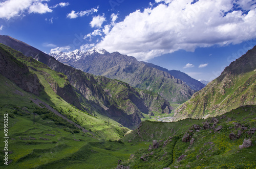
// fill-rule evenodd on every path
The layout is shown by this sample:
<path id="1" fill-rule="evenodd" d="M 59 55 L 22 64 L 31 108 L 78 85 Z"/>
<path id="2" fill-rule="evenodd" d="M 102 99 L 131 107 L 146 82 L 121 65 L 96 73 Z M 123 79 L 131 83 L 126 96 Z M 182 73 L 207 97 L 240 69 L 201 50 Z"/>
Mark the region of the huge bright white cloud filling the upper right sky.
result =
<path id="1" fill-rule="evenodd" d="M 194 52 L 197 47 L 237 44 L 256 38 L 253 0 L 156 3 L 155 7 L 137 10 L 123 21 L 104 26 L 104 36 L 97 47 L 146 61 L 181 49 Z M 103 21 L 96 23 L 92 22 L 92 28 L 101 27 Z"/>

